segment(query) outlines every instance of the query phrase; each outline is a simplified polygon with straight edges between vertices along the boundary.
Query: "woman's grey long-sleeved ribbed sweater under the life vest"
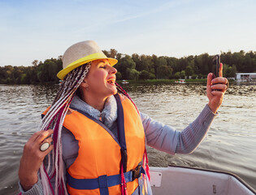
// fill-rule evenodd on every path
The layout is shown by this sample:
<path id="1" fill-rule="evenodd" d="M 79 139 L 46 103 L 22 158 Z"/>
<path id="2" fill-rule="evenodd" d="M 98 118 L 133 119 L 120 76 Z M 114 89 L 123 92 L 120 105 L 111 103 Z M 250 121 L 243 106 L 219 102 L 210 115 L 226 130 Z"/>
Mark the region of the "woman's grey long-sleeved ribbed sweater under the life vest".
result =
<path id="1" fill-rule="evenodd" d="M 81 107 L 78 102 L 77 104 L 72 103 L 72 107 L 79 110 L 82 108 L 83 110 L 84 106 Z M 84 108 L 84 110 L 85 109 L 86 108 Z M 88 110 L 85 112 L 88 112 Z M 148 115 L 141 113 L 146 144 L 169 154 L 189 154 L 193 152 L 205 137 L 214 118 L 215 114 L 212 113 L 209 106 L 206 105 L 200 115 L 198 115 L 197 119 L 180 132 L 169 125 L 161 124 L 158 121 L 151 119 Z M 110 129 L 115 134 L 115 122 L 111 124 Z M 66 169 L 76 160 L 79 148 L 78 142 L 72 135 L 72 132 L 69 132 L 66 128 L 63 128 L 62 142 L 65 143 L 63 144 L 63 161 L 66 165 L 66 171 Z M 54 183 L 54 180 L 52 182 Z M 20 192 L 28 195 L 43 194 L 40 178 L 38 179 L 37 184 L 34 184 L 33 188 L 26 192 L 24 192 L 20 186 Z"/>

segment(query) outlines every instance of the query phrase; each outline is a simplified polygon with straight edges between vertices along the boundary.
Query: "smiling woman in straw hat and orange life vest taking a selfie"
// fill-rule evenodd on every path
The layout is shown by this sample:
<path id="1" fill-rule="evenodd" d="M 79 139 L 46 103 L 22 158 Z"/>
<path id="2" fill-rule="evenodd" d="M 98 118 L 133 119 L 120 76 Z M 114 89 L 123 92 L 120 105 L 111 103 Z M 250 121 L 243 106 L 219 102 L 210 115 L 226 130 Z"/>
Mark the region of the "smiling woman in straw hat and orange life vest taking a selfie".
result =
<path id="1" fill-rule="evenodd" d="M 137 111 L 115 84 L 115 63 L 94 41 L 63 54 L 57 75 L 63 83 L 43 113 L 41 131 L 24 146 L 22 194 L 151 194 L 145 141 L 169 154 L 189 154 L 205 137 L 228 88 L 226 78 L 208 75 L 208 104 L 179 132 Z"/>

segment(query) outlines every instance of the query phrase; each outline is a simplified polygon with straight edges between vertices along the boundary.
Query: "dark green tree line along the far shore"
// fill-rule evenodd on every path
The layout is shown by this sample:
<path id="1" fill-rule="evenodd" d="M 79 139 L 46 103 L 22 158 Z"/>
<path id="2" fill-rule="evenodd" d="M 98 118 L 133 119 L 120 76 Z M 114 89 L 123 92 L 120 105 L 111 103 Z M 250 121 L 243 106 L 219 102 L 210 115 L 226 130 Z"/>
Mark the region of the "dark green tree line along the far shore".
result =
<path id="1" fill-rule="evenodd" d="M 145 54 L 120 54 L 115 49 L 103 50 L 110 58 L 118 59 L 115 68 L 117 80 L 193 79 L 206 78 L 211 72 L 212 58 L 209 54 L 189 55 L 183 58 Z M 235 77 L 236 72 L 256 72 L 256 52 L 221 52 L 223 76 Z M 57 73 L 62 69 L 62 56 L 34 60 L 30 67 L 0 67 L 0 84 L 39 84 L 59 82 Z"/>

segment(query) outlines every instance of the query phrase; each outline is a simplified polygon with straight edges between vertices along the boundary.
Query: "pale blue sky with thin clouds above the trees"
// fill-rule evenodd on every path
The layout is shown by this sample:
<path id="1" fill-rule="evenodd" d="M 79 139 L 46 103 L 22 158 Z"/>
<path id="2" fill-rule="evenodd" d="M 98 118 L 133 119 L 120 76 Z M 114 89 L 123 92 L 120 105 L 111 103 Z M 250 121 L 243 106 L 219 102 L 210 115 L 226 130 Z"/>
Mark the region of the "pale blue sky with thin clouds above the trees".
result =
<path id="1" fill-rule="evenodd" d="M 32 66 L 86 40 L 129 55 L 256 51 L 256 1 L 0 0 L 0 66 Z"/>

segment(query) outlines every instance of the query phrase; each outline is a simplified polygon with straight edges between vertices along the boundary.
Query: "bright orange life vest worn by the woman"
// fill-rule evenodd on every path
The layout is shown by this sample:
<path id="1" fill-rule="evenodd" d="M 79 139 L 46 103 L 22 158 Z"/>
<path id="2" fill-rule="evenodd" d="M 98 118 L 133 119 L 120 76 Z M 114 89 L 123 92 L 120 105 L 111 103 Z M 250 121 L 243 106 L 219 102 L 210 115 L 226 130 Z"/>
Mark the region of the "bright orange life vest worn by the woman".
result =
<path id="1" fill-rule="evenodd" d="M 141 163 L 145 152 L 145 132 L 141 117 L 128 98 L 121 95 L 115 95 L 115 98 L 118 103 L 119 137 L 124 137 L 121 141 L 118 141 L 111 130 L 100 121 L 83 115 L 80 111 L 70 109 L 71 113 L 65 117 L 63 126 L 72 132 L 79 145 L 78 157 L 67 169 L 67 175 L 75 180 L 75 184 L 83 179 L 99 181 L 97 189 L 91 186 L 89 189 L 83 189 L 84 184 L 81 184 L 82 189 L 75 189 L 67 178 L 69 194 L 93 195 L 106 191 L 111 195 L 121 194 L 120 183 L 111 186 L 111 177 L 120 177 L 120 163 L 125 164 L 124 171 L 127 170 L 127 173 Z M 125 151 L 121 152 L 121 148 Z M 138 183 L 137 178 L 127 183 L 128 194 L 138 188 Z"/>

